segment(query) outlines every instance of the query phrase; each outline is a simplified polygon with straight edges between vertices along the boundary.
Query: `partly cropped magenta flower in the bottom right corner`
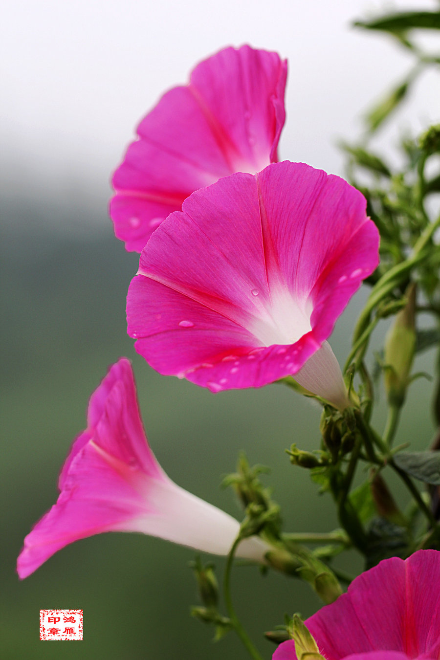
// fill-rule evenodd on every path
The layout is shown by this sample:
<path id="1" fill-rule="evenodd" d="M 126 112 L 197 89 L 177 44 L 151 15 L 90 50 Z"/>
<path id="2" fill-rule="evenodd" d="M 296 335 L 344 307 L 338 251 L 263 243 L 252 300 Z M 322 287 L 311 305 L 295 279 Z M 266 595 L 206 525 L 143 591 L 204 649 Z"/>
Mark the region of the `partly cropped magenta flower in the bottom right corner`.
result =
<path id="1" fill-rule="evenodd" d="M 439 660 L 440 552 L 386 559 L 305 625 L 327 660 Z M 294 642 L 273 660 L 296 660 Z"/>

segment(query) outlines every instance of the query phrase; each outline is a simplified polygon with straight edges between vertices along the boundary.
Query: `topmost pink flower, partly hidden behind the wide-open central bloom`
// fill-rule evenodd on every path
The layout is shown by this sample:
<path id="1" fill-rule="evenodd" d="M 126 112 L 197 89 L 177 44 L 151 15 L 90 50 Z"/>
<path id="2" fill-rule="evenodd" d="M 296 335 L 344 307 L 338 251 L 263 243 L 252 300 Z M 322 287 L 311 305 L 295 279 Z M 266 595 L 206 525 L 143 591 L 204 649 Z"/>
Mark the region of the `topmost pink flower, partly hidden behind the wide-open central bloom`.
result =
<path id="1" fill-rule="evenodd" d="M 286 75 L 277 53 L 225 48 L 162 96 L 113 177 L 110 215 L 127 250 L 141 252 L 193 191 L 278 160 Z"/>

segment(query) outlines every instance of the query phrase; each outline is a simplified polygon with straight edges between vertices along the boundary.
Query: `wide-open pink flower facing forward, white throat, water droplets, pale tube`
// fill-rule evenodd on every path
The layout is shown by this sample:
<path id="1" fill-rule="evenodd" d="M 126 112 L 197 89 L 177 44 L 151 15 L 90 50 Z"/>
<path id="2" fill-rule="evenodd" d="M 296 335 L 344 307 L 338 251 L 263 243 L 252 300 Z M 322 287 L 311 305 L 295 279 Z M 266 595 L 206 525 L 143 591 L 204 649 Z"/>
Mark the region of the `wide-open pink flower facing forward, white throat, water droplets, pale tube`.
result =
<path id="1" fill-rule="evenodd" d="M 193 193 L 154 232 L 131 281 L 137 352 L 212 391 L 294 374 L 346 407 L 326 340 L 379 261 L 365 204 L 339 177 L 287 161 Z"/>

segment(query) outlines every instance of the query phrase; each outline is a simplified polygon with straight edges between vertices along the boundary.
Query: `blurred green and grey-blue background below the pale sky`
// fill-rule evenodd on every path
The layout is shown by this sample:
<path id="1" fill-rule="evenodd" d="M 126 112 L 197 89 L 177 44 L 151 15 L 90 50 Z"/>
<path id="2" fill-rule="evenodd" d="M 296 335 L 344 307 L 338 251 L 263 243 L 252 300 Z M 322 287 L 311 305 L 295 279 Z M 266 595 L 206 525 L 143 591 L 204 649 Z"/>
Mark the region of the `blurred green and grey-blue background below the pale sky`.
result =
<path id="1" fill-rule="evenodd" d="M 319 408 L 282 385 L 212 394 L 150 369 L 125 328 L 125 295 L 137 255 L 113 238 L 110 221 L 94 222 L 92 233 L 62 229 L 82 214 L 104 220 L 103 204 L 84 207 L 79 199 L 67 203 L 55 196 L 31 204 L 6 195 L 3 205 L 2 657 L 60 657 L 57 645 L 39 640 L 39 610 L 59 608 L 84 610 L 84 640 L 63 645 L 63 657 L 244 658 L 233 634 L 213 644 L 213 630 L 189 617 L 198 601 L 187 568 L 195 553 L 186 548 L 142 535 L 98 535 L 61 550 L 26 580 L 16 577 L 24 536 L 57 498 L 59 469 L 85 426 L 88 397 L 121 355 L 133 360 L 150 444 L 178 484 L 240 517 L 234 495 L 219 484 L 244 449 L 251 463 L 272 468 L 265 482 L 282 505 L 286 531 L 337 526 L 330 497 L 319 496 L 307 471 L 290 466 L 284 453 L 292 442 L 317 447 Z M 340 361 L 365 295 L 355 296 L 332 336 Z M 373 348 L 380 347 L 385 327 Z M 416 370 L 429 370 L 431 362 L 433 354 L 424 354 Z M 429 442 L 430 390 L 426 380 L 412 385 L 397 442 L 414 448 Z M 381 409 L 376 422 L 382 428 Z M 361 568 L 354 553 L 343 562 L 344 568 Z M 215 563 L 221 578 L 224 560 Z M 284 612 L 309 616 L 319 607 L 306 585 L 274 573 L 260 576 L 253 567 L 234 570 L 233 594 L 267 658 L 274 647 L 263 639 L 264 630 L 282 623 Z"/>

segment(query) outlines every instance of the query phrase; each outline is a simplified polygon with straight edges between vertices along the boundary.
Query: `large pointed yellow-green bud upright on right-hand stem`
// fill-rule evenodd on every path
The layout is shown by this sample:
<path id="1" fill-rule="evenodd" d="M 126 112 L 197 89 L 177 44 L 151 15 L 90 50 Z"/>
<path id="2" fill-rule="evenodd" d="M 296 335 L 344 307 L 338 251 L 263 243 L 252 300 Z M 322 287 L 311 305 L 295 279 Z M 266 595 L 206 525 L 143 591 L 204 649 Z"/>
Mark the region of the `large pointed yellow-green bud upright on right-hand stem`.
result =
<path id="1" fill-rule="evenodd" d="M 397 406 L 405 399 L 416 348 L 416 285 L 410 284 L 406 293 L 408 302 L 385 337 L 385 389 L 389 404 Z"/>

